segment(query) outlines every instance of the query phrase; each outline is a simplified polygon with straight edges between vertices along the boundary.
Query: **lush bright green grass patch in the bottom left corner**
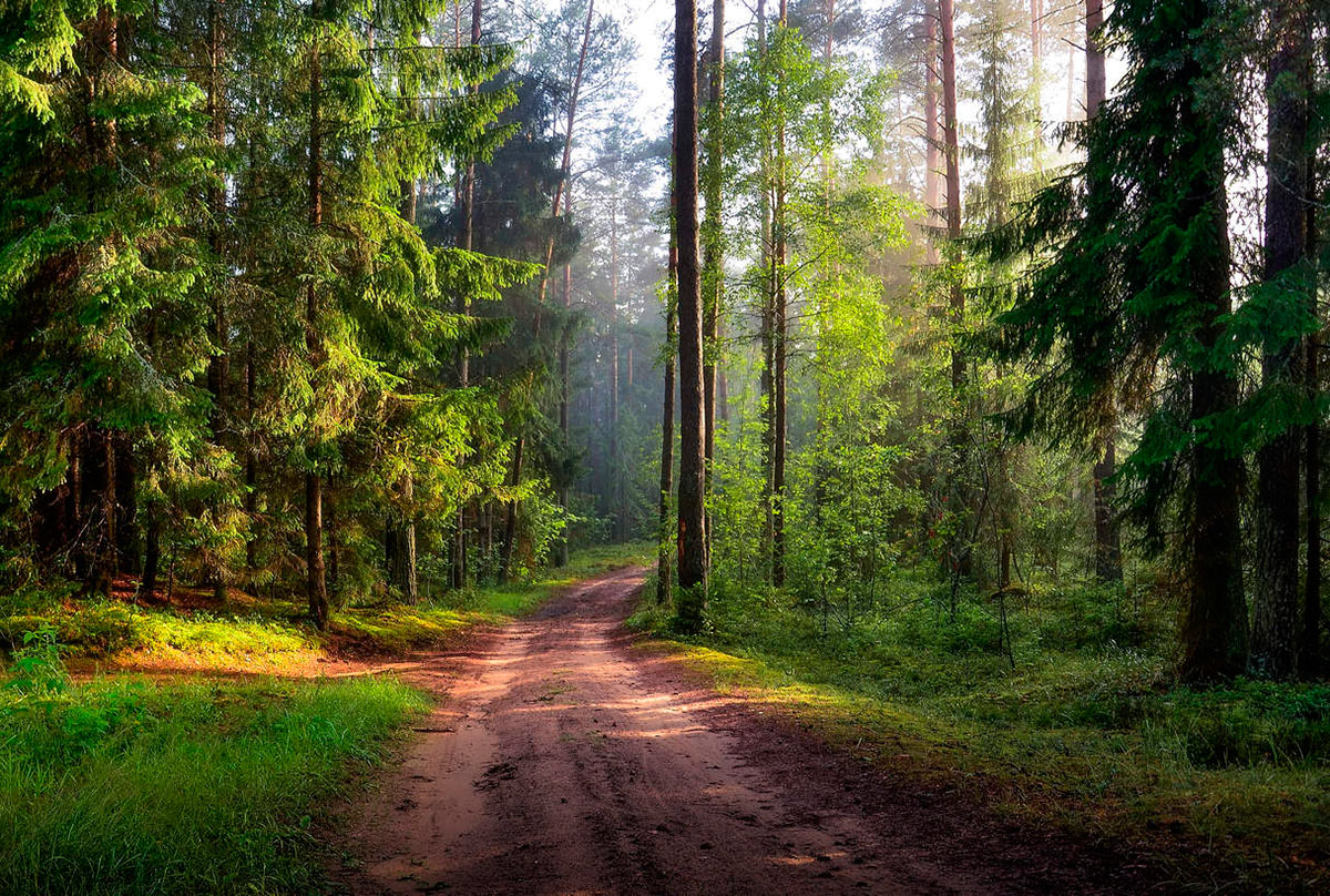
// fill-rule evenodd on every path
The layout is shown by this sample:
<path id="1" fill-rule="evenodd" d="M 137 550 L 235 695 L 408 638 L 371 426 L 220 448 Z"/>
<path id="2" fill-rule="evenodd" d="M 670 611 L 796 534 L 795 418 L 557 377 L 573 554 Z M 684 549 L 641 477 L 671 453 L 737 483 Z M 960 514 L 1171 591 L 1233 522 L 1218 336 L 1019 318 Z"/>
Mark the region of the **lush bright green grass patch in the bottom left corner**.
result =
<path id="1" fill-rule="evenodd" d="M 388 678 L 0 692 L 0 892 L 278 893 L 426 698 Z"/>

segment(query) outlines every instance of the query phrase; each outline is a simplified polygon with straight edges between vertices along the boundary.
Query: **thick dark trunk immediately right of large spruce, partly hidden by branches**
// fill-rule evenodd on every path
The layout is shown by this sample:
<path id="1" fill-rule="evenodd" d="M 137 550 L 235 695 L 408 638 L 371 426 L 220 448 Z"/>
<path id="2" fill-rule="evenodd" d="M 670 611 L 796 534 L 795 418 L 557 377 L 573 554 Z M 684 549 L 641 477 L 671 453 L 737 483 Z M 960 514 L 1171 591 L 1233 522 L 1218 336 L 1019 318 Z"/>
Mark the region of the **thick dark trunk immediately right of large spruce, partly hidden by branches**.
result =
<path id="1" fill-rule="evenodd" d="M 1274 52 L 1266 65 L 1265 280 L 1279 302 L 1305 306 L 1294 286 L 1278 286 L 1306 254 L 1306 141 L 1310 75 L 1309 21 L 1297 0 L 1273 4 Z M 1301 309 L 1299 309 L 1301 310 Z M 1298 342 L 1287 334 L 1265 341 L 1265 389 L 1297 389 Z M 1254 675 L 1289 679 L 1298 655 L 1298 430 L 1289 426 L 1257 451 L 1256 595 L 1252 620 Z"/>

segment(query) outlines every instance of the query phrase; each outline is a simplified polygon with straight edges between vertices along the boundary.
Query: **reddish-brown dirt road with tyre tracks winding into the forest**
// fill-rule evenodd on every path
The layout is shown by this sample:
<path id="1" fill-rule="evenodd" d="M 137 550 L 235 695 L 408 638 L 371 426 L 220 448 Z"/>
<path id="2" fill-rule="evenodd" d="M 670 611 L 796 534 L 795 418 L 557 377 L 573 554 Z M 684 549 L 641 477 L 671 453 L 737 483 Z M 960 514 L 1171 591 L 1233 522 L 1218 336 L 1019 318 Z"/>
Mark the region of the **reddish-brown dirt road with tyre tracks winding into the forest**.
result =
<path id="1" fill-rule="evenodd" d="M 447 691 L 359 812 L 356 893 L 1085 893 L 1111 856 L 884 778 L 629 647 L 641 570 L 418 674 Z"/>

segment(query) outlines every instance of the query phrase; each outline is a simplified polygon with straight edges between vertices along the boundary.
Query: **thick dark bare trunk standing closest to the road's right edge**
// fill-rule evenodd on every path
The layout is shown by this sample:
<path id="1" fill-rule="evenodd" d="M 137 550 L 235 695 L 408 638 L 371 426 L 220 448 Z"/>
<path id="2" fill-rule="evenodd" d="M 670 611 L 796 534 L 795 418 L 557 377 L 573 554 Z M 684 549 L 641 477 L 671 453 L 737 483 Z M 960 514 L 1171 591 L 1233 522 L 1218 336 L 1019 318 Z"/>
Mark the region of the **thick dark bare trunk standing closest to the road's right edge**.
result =
<path id="1" fill-rule="evenodd" d="M 674 217 L 678 244 L 678 618 L 698 631 L 706 607 L 702 281 L 697 226 L 697 3 L 674 3 Z"/>

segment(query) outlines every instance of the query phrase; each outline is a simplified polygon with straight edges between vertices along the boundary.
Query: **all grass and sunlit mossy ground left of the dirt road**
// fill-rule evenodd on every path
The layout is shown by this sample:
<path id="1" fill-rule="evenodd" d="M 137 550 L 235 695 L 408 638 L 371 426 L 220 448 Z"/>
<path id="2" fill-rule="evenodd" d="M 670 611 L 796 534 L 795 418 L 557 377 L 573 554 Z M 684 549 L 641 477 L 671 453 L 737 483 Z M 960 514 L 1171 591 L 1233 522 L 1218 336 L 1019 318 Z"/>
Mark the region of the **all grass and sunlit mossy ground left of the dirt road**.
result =
<path id="1" fill-rule="evenodd" d="M 344 607 L 327 634 L 291 600 L 239 592 L 206 610 L 0 599 L 0 644 L 11 647 L 0 893 L 317 892 L 321 807 L 380 763 L 430 703 L 392 678 L 311 678 L 318 663 L 446 646 L 650 550 L 584 551 L 529 582 L 416 606 Z M 193 675 L 74 682 L 69 658 Z"/>

